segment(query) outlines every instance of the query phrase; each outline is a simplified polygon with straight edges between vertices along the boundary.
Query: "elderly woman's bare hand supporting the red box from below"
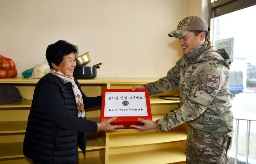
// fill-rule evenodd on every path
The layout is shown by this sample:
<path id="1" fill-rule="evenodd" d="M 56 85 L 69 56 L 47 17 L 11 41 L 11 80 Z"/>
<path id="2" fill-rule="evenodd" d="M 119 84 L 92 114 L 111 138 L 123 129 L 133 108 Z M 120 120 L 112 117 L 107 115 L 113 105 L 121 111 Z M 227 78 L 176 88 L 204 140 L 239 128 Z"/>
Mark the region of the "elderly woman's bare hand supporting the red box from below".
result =
<path id="1" fill-rule="evenodd" d="M 119 128 L 123 128 L 122 125 L 111 125 L 110 124 L 115 119 L 116 119 L 116 116 L 99 123 L 97 130 L 102 130 L 107 133 L 112 133 L 112 132 L 118 131 Z"/>

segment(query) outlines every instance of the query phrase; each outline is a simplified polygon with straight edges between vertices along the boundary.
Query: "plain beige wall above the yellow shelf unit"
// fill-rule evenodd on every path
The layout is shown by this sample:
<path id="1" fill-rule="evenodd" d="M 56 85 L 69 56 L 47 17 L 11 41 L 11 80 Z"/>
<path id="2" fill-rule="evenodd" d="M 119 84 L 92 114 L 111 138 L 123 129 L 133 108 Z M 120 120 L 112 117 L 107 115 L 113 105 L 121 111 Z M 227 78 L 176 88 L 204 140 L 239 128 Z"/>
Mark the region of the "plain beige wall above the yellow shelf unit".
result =
<path id="1" fill-rule="evenodd" d="M 22 77 L 44 61 L 49 44 L 66 40 L 89 52 L 88 66 L 103 62 L 97 78 L 160 78 L 182 56 L 167 34 L 200 15 L 202 1 L 0 0 L 0 54 Z"/>

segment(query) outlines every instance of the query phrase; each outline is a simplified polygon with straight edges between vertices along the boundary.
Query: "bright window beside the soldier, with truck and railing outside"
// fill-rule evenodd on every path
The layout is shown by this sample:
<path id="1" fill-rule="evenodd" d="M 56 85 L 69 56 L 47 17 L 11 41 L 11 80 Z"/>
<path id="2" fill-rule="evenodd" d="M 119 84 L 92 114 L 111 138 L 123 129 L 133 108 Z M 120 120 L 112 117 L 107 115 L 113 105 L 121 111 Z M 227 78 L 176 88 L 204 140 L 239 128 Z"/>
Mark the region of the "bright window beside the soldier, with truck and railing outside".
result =
<path id="1" fill-rule="evenodd" d="M 211 3 L 210 40 L 217 49 L 225 48 L 233 60 L 229 87 L 235 119 L 230 164 L 235 159 L 239 160 L 237 163 L 256 164 L 255 3 L 254 0 L 212 0 Z"/>

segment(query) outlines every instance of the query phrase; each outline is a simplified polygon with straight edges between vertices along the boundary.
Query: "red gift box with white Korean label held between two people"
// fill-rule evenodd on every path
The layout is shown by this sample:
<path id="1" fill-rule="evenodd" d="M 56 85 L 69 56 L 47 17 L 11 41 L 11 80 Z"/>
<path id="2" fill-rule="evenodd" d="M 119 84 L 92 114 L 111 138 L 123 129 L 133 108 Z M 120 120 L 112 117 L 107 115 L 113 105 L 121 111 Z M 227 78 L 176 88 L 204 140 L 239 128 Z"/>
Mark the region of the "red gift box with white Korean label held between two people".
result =
<path id="1" fill-rule="evenodd" d="M 152 120 L 148 89 L 103 89 L 100 122 L 117 116 L 111 125 L 142 126 L 138 118 Z"/>

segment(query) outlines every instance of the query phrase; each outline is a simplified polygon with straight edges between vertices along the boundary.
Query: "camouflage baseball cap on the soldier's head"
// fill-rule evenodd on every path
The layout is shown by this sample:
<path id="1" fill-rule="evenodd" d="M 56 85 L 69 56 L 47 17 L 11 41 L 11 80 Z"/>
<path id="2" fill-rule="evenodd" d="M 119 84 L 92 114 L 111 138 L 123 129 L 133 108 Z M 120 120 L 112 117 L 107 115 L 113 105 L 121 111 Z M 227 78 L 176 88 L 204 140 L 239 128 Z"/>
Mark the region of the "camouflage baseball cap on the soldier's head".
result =
<path id="1" fill-rule="evenodd" d="M 188 16 L 182 19 L 177 29 L 168 34 L 169 37 L 182 38 L 191 30 L 208 31 L 208 24 L 198 16 Z"/>

